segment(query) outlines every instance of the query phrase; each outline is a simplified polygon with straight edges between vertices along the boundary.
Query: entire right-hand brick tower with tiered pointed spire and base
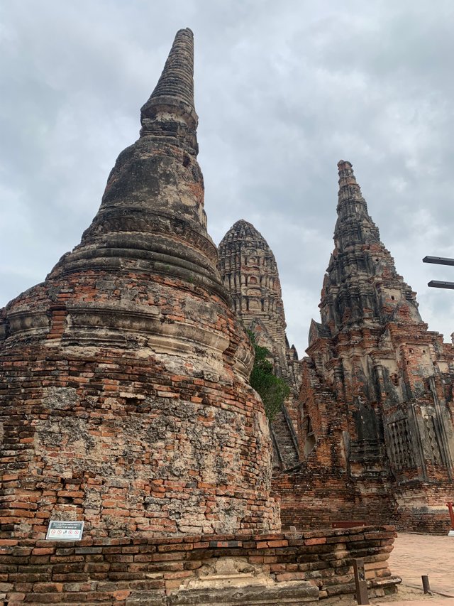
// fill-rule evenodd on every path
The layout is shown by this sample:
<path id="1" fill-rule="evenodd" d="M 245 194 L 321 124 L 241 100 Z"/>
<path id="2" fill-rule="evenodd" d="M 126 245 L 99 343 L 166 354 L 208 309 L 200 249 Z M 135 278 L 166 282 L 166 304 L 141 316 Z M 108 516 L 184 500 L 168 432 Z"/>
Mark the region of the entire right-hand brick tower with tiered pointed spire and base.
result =
<path id="1" fill-rule="evenodd" d="M 305 460 L 275 482 L 282 521 L 393 521 L 442 531 L 454 489 L 453 346 L 421 320 L 416 293 L 380 241 L 352 165 L 340 161 L 338 170 L 321 322 L 312 320 L 302 362 Z"/>

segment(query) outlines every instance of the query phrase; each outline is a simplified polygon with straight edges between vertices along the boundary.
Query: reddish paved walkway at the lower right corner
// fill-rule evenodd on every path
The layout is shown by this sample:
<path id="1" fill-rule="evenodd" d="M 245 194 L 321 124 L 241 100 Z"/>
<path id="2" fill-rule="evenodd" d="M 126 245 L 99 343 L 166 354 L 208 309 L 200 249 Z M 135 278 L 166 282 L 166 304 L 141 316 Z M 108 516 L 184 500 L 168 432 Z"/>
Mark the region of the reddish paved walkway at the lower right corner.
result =
<path id="1" fill-rule="evenodd" d="M 428 603 L 435 606 L 443 595 L 453 598 L 440 600 L 445 606 L 451 602 L 454 605 L 454 536 L 399 533 L 389 556 L 389 568 L 394 575 L 402 577 L 402 585 L 419 588 L 421 592 L 421 575 L 428 575 L 435 594 Z M 416 605 L 416 600 L 405 603 Z"/>

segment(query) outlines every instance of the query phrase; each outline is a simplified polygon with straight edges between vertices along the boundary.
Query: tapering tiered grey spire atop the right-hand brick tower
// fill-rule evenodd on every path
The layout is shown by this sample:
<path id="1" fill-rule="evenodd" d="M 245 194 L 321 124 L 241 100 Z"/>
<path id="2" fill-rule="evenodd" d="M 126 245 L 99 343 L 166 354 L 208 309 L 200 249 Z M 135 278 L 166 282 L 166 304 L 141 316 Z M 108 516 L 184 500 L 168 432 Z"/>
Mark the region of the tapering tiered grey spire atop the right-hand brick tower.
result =
<path id="1" fill-rule="evenodd" d="M 335 248 L 321 291 L 323 327 L 334 335 L 353 326 L 384 325 L 401 302 L 411 317 L 406 321 L 421 322 L 414 293 L 397 275 L 394 259 L 380 240 L 351 163 L 339 161 L 338 171 Z"/>

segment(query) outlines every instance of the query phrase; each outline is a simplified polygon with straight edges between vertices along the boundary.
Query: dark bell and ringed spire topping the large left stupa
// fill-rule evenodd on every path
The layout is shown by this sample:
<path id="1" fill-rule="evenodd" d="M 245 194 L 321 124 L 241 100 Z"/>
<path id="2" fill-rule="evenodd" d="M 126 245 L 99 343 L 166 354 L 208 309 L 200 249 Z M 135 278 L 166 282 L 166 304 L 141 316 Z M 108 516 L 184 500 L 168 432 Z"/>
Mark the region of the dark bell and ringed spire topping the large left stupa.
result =
<path id="1" fill-rule="evenodd" d="M 140 266 L 203 283 L 226 298 L 206 232 L 204 180 L 196 161 L 192 31 L 180 30 L 142 108 L 140 138 L 118 156 L 92 224 L 52 275 L 80 267 Z"/>

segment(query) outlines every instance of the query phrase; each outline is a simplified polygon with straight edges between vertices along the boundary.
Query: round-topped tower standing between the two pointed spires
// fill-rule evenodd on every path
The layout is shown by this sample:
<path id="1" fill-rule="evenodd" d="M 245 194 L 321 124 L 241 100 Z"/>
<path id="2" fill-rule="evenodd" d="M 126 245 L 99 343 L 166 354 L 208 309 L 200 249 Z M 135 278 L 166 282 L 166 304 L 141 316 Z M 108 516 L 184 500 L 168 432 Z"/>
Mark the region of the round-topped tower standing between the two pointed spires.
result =
<path id="1" fill-rule="evenodd" d="M 285 334 L 284 303 L 277 263 L 265 238 L 253 224 L 237 221 L 221 240 L 219 270 L 230 293 L 232 307 L 245 328 L 254 332 L 258 345 L 267 347 L 274 372 L 291 389 L 271 424 L 275 470 L 299 462 L 296 400 L 301 386 L 300 364 L 294 345 Z"/>

